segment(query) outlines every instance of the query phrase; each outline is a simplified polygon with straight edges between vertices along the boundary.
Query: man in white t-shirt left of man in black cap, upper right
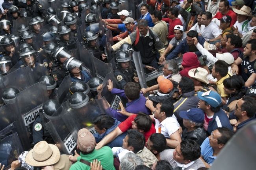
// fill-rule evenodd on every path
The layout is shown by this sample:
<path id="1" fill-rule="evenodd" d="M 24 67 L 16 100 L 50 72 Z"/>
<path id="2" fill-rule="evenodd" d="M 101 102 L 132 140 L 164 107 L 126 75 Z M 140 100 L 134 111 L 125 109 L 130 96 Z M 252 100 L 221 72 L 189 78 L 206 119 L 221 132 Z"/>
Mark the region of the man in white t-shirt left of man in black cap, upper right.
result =
<path id="1" fill-rule="evenodd" d="M 211 21 L 211 13 L 204 12 L 201 17 L 201 35 L 207 42 L 215 42 L 221 39 L 221 30 Z"/>

